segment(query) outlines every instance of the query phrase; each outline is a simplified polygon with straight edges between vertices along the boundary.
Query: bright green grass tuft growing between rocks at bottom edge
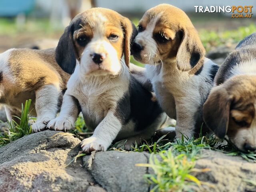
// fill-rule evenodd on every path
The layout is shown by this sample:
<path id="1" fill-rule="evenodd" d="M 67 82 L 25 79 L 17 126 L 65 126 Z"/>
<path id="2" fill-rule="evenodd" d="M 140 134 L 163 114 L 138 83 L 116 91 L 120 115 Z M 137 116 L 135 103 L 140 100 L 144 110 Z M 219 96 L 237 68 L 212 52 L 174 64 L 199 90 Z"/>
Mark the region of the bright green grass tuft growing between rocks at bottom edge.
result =
<path id="1" fill-rule="evenodd" d="M 148 183 L 154 186 L 150 192 L 192 191 L 192 186 L 196 184 L 200 188 L 204 182 L 198 180 L 191 173 L 207 171 L 206 169 L 195 169 L 195 160 L 196 158 L 193 156 L 188 159 L 186 154 L 166 150 L 159 152 L 158 156 L 151 155 L 148 164 L 136 164 L 136 166 L 153 169 L 154 174 L 144 175 Z"/>

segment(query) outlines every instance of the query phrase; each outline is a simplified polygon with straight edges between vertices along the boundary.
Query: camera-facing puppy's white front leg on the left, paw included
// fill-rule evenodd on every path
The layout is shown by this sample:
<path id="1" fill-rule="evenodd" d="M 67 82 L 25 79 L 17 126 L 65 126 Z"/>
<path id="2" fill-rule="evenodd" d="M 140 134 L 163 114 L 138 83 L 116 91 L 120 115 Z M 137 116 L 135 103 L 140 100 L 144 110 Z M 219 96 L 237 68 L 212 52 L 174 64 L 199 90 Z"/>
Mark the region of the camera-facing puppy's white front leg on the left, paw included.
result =
<path id="1" fill-rule="evenodd" d="M 79 112 L 78 100 L 65 93 L 59 116 L 51 120 L 47 127 L 51 130 L 70 130 L 74 127 Z"/>

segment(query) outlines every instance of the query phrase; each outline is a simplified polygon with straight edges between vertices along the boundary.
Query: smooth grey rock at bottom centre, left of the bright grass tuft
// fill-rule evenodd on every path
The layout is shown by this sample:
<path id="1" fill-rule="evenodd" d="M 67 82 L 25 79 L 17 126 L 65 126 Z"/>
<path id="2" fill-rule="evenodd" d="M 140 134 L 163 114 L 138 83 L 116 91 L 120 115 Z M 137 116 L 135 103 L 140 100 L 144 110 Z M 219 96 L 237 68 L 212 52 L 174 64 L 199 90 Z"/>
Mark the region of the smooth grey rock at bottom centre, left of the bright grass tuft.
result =
<path id="1" fill-rule="evenodd" d="M 84 156 L 83 161 L 88 167 L 90 156 Z M 89 171 L 108 192 L 145 192 L 149 188 L 143 178 L 147 168 L 135 164 L 147 162 L 148 154 L 145 152 L 97 152 Z"/>

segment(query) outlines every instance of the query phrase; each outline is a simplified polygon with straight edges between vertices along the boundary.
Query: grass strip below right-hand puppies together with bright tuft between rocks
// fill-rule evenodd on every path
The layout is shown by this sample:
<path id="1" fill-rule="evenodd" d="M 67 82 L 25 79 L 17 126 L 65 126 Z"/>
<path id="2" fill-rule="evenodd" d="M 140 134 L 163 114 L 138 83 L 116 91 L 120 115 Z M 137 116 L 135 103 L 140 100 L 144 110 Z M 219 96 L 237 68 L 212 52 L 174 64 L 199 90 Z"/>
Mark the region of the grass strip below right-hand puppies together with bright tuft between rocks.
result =
<path id="1" fill-rule="evenodd" d="M 195 188 L 196 190 L 200 189 L 202 184 L 212 187 L 191 175 L 195 171 L 208 171 L 194 168 L 196 160 L 206 157 L 202 153 L 202 149 L 218 150 L 227 155 L 241 156 L 250 162 L 254 161 L 256 157 L 254 153 L 239 152 L 230 144 L 221 146 L 222 140 L 218 140 L 214 135 L 202 136 L 200 134 L 199 138 L 182 136 L 182 139 L 177 139 L 176 142 L 170 142 L 164 137 L 162 136 L 156 142 L 145 141 L 142 145 L 136 144 L 132 148 L 134 152 L 151 153 L 148 164 L 137 164 L 137 166 L 153 169 L 154 173 L 145 175 L 148 184 L 154 186 L 151 192 L 194 191 Z M 115 146 L 116 144 L 114 144 Z M 122 147 L 112 148 L 112 150 L 124 151 Z"/>

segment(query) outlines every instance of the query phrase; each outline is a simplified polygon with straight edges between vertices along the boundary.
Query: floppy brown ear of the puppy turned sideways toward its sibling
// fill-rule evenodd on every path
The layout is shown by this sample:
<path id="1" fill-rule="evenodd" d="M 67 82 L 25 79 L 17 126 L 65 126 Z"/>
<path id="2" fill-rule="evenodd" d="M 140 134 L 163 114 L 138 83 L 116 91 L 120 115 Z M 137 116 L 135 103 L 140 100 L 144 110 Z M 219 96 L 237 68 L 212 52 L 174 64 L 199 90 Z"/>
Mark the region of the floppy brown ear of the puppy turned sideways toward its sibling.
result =
<path id="1" fill-rule="evenodd" d="M 204 46 L 194 27 L 182 30 L 182 40 L 178 48 L 176 60 L 179 70 L 188 71 L 192 68 L 200 68 L 205 55 Z"/>

